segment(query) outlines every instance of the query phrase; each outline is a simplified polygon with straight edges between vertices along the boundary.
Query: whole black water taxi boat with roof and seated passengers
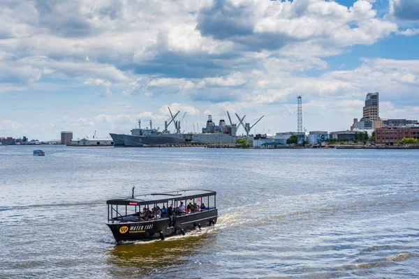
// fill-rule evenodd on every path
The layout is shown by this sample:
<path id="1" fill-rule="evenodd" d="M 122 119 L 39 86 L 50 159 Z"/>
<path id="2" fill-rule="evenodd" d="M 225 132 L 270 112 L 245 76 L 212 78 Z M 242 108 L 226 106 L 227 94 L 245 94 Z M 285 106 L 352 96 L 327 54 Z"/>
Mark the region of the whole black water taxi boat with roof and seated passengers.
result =
<path id="1" fill-rule="evenodd" d="M 216 192 L 180 190 L 109 199 L 108 227 L 117 242 L 164 240 L 215 225 Z"/>

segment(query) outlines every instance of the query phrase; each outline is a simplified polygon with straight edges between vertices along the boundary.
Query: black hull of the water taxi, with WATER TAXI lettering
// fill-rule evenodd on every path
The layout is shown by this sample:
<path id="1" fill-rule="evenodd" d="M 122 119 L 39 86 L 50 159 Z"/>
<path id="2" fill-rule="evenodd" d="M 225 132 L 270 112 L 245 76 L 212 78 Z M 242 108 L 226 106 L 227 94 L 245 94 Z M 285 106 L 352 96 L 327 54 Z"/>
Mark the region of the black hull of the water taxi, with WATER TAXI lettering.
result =
<path id="1" fill-rule="evenodd" d="M 142 222 L 107 223 L 117 242 L 150 241 L 161 239 L 162 236 L 173 236 L 191 232 L 198 227 L 209 227 L 216 223 L 217 209 L 175 216 L 173 227 L 168 227 L 169 219 L 161 218 Z M 183 232 L 182 232 L 183 231 Z"/>

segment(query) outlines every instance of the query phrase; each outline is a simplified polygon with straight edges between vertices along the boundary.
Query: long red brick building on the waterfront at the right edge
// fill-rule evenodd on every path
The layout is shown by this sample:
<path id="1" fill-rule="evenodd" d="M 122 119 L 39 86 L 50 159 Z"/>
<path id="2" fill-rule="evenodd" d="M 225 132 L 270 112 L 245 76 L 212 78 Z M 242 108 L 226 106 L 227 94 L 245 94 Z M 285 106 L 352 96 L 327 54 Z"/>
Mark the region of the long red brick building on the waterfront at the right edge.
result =
<path id="1" fill-rule="evenodd" d="M 404 137 L 419 139 L 419 125 L 387 126 L 376 129 L 376 144 L 393 145 L 402 143 Z"/>

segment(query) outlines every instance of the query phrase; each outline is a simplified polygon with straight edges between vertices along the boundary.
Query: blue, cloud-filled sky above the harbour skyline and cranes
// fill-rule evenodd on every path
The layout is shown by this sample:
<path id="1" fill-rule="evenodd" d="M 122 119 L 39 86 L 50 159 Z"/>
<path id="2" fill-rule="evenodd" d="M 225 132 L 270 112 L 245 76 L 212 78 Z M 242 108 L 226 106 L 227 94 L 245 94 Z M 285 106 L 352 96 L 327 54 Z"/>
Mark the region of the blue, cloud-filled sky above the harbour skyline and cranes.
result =
<path id="1" fill-rule="evenodd" d="M 227 111 L 295 131 L 297 96 L 307 131 L 348 130 L 369 92 L 419 119 L 419 0 L 2 0 L 0 21 L 0 137 L 162 130 L 168 107 L 185 133 Z"/>

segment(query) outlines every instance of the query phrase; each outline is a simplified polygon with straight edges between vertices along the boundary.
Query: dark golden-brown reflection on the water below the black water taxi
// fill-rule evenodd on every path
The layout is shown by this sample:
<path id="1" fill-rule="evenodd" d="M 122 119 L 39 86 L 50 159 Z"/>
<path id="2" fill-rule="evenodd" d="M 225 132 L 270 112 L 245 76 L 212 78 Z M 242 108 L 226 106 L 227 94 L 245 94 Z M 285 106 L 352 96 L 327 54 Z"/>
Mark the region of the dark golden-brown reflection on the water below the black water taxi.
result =
<path id="1" fill-rule="evenodd" d="M 134 242 L 116 245 L 109 250 L 108 262 L 112 276 L 147 276 L 189 264 L 191 257 L 205 257 L 213 249 L 216 234 L 201 231 L 172 236 L 165 241 Z"/>

